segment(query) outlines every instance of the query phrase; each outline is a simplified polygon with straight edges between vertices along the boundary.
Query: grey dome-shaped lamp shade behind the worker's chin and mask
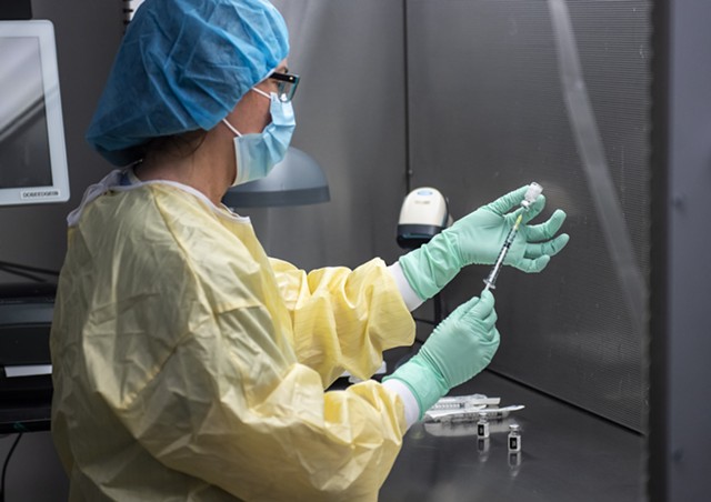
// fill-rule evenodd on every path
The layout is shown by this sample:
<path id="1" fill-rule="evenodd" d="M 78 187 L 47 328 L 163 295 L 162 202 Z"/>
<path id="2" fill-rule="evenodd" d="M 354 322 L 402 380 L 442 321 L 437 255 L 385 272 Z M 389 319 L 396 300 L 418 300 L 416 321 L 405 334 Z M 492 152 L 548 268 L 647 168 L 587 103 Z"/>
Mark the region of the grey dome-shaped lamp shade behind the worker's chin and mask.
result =
<path id="1" fill-rule="evenodd" d="M 316 204 L 330 199 L 329 183 L 319 163 L 289 147 L 269 175 L 230 188 L 222 203 L 228 208 L 272 208 Z"/>

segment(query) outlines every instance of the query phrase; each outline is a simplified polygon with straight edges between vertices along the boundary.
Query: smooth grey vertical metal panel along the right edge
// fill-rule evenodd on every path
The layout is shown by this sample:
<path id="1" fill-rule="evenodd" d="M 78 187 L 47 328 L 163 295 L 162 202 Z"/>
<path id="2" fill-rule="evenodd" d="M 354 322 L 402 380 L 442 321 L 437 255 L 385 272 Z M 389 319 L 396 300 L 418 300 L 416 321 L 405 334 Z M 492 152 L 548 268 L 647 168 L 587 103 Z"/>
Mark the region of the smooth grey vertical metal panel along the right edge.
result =
<path id="1" fill-rule="evenodd" d="M 711 31 L 708 0 L 654 7 L 654 227 L 649 493 L 709 499 Z"/>

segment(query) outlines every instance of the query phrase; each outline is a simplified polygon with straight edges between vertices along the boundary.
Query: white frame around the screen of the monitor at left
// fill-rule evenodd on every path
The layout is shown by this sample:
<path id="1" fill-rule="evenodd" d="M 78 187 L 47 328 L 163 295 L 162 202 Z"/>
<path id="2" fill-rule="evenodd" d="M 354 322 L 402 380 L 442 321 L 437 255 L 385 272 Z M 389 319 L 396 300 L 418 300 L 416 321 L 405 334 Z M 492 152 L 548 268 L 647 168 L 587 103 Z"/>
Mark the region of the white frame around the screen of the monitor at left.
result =
<path id="1" fill-rule="evenodd" d="M 0 205 L 66 202 L 69 200 L 69 172 L 54 27 L 49 20 L 0 21 L 0 38 L 8 37 L 37 38 L 39 41 L 52 184 L 0 187 Z"/>

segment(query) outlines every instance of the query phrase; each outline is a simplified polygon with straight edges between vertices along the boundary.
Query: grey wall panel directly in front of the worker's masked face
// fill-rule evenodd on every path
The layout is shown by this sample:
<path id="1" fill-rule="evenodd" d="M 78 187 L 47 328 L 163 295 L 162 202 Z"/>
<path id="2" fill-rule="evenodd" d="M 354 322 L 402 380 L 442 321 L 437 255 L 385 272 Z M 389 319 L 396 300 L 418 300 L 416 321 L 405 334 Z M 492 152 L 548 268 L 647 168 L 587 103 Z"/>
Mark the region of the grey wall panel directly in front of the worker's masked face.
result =
<path id="1" fill-rule="evenodd" d="M 271 255 L 304 269 L 394 260 L 405 194 L 400 0 L 278 0 L 301 76 L 292 144 L 329 180 L 324 204 L 249 214 Z"/>

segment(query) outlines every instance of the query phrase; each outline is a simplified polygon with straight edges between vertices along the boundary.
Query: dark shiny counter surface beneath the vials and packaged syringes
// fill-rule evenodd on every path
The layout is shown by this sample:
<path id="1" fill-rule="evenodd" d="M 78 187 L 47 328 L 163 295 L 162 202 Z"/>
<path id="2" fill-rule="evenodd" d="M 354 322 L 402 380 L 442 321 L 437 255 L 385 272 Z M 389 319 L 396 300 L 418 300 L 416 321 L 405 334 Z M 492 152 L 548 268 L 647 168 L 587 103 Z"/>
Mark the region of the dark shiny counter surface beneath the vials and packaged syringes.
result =
<path id="1" fill-rule="evenodd" d="M 644 438 L 484 371 L 451 394 L 482 393 L 524 404 L 491 422 L 488 444 L 473 423 L 418 422 L 381 492 L 381 502 L 638 502 L 644 493 Z M 522 451 L 509 454 L 509 423 Z"/>

